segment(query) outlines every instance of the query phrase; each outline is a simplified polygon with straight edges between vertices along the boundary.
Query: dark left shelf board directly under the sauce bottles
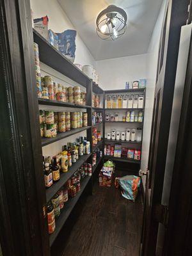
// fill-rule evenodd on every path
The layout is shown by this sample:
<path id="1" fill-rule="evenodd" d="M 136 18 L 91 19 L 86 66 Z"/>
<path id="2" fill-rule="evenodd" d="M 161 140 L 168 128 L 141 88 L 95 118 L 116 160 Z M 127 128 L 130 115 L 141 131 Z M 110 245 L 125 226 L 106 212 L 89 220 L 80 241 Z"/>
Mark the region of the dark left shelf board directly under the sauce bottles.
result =
<path id="1" fill-rule="evenodd" d="M 54 196 L 58 192 L 58 190 L 67 182 L 68 179 L 70 179 L 70 177 L 72 177 L 72 175 L 74 175 L 74 173 L 81 167 L 81 165 L 84 162 L 86 162 L 89 159 L 91 155 L 92 154 L 88 154 L 88 155 L 79 157 L 77 162 L 72 164 L 72 166 L 68 168 L 68 172 L 60 174 L 60 180 L 52 184 L 50 188 L 46 189 L 47 202 L 51 200 L 52 196 Z"/>

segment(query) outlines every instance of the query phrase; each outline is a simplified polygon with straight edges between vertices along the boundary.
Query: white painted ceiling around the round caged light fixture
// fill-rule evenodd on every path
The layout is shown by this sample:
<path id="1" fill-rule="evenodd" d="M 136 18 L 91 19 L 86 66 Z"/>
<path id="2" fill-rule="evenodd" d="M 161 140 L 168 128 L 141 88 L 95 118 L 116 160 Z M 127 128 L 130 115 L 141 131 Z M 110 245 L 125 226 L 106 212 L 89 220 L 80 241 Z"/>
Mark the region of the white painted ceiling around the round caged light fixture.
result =
<path id="1" fill-rule="evenodd" d="M 95 60 L 105 60 L 147 52 L 163 0 L 58 0 Z M 97 36 L 95 20 L 109 4 L 125 10 L 125 34 L 115 41 Z"/>

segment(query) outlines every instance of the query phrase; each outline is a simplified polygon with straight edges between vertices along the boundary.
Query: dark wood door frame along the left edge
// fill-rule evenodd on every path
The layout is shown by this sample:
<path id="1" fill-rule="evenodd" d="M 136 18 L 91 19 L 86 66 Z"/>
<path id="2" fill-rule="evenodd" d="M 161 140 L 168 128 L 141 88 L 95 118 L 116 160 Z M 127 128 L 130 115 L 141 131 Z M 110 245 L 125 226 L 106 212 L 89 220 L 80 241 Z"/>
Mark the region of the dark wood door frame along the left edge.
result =
<path id="1" fill-rule="evenodd" d="M 29 0 L 0 1 L 1 175 L 10 248 L 5 255 L 49 255 L 42 148 L 36 100 L 35 61 Z M 1 202 L 2 204 L 2 202 Z M 2 205 L 0 206 L 1 209 Z M 4 223 L 4 219 L 3 219 Z M 8 254 L 10 253 L 10 254 Z"/>

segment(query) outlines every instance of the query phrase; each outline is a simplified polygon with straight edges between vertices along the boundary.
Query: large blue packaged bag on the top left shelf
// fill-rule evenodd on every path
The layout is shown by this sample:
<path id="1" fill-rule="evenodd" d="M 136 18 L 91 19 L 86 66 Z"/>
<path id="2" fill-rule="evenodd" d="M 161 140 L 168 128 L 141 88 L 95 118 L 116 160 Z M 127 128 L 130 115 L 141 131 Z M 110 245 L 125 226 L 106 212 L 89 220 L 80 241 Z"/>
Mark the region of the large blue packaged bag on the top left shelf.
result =
<path id="1" fill-rule="evenodd" d="M 72 63 L 74 63 L 76 56 L 76 34 L 77 31 L 72 29 L 67 29 L 63 33 L 57 33 L 59 51 Z"/>

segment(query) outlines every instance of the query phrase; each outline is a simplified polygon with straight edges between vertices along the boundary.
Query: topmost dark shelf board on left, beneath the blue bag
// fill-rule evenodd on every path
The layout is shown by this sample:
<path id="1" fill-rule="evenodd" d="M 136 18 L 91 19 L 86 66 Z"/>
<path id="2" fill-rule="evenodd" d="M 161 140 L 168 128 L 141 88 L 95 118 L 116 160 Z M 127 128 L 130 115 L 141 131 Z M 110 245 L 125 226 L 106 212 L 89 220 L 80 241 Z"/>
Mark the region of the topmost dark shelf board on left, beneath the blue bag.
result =
<path id="1" fill-rule="evenodd" d="M 40 61 L 84 87 L 88 86 L 91 79 L 79 70 L 70 60 L 65 58 L 60 51 L 49 44 L 35 29 L 33 29 L 33 39 L 34 42 L 38 44 Z"/>

